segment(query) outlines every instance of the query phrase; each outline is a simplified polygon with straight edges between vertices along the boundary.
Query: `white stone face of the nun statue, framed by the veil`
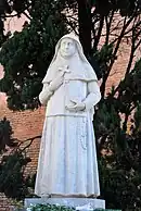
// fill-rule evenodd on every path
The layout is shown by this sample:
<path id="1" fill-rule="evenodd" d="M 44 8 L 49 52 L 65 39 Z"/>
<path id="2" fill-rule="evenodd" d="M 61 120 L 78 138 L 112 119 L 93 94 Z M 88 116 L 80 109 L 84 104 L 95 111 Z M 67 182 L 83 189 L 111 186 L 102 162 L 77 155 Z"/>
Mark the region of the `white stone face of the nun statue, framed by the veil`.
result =
<path id="1" fill-rule="evenodd" d="M 60 48 L 61 54 L 65 58 L 69 58 L 76 52 L 76 44 L 70 38 L 64 38 L 61 41 Z"/>

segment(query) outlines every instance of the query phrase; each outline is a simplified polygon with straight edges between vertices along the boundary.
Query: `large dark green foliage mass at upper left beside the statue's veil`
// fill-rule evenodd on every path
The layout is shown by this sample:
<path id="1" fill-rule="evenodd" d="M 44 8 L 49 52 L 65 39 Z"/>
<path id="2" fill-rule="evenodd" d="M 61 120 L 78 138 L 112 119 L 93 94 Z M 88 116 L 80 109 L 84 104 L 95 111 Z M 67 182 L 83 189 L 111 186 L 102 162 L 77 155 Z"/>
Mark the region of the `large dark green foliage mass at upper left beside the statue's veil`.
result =
<path id="1" fill-rule="evenodd" d="M 4 78 L 1 90 L 8 95 L 12 110 L 38 108 L 41 79 L 54 50 L 54 44 L 66 32 L 57 2 L 36 1 L 30 9 L 31 21 L 21 33 L 3 44 L 1 64 Z"/>

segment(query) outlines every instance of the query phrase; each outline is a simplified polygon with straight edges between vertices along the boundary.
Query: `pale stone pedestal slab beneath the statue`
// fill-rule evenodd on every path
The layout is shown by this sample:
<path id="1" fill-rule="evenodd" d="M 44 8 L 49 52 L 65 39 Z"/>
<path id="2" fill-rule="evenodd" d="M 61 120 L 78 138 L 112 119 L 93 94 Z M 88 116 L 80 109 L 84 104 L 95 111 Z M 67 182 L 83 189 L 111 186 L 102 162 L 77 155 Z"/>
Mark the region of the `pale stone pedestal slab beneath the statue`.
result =
<path id="1" fill-rule="evenodd" d="M 73 207 L 77 210 L 105 209 L 105 201 L 90 198 L 26 198 L 25 208 L 30 204 L 60 204 Z"/>

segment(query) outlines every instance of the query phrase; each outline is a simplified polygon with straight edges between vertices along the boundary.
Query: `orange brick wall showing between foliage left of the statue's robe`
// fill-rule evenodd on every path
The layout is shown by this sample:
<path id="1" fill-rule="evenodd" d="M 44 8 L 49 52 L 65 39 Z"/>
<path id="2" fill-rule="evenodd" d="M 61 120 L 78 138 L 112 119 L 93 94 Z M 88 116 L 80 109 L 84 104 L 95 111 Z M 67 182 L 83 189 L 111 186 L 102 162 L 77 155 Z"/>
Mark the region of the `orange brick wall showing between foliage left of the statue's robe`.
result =
<path id="1" fill-rule="evenodd" d="M 4 116 L 11 122 L 14 137 L 20 140 L 25 140 L 29 137 L 41 135 L 44 108 L 40 108 L 36 111 L 26 112 L 12 112 L 7 107 L 4 101 L 0 105 L 0 120 Z M 27 142 L 28 144 L 28 142 Z M 28 156 L 31 158 L 31 162 L 28 163 L 25 173 L 34 174 L 37 169 L 38 153 L 39 153 L 40 139 L 35 139 L 33 145 L 28 149 Z M 0 194 L 0 211 L 12 211 L 13 206 L 11 200 L 7 199 L 3 194 Z"/>

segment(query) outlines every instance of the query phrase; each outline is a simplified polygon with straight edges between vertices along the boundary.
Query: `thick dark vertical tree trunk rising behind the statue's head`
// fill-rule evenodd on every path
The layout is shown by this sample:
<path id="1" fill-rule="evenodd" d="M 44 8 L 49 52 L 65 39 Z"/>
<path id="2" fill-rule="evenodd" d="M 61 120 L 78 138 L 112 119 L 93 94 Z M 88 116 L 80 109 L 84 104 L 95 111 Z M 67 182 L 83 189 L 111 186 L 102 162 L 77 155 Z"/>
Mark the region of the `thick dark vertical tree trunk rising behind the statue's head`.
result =
<path id="1" fill-rule="evenodd" d="M 91 5 L 87 0 L 78 2 L 79 38 L 86 57 L 91 51 Z"/>

